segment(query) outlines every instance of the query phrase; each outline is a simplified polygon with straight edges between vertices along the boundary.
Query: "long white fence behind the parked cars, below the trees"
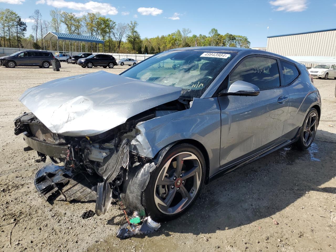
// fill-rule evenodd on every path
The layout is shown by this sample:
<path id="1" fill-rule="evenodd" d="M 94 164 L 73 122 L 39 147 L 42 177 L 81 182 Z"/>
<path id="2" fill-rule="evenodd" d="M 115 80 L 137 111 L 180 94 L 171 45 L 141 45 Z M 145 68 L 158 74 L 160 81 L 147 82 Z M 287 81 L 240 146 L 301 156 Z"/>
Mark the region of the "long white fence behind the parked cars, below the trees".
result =
<path id="1" fill-rule="evenodd" d="M 10 55 L 10 54 L 12 54 L 14 52 L 25 51 L 25 50 L 34 50 L 34 49 L 0 47 L 0 56 L 6 56 L 6 55 Z M 52 52 L 53 54 L 58 53 L 58 51 L 49 51 L 49 50 L 48 50 L 48 52 Z M 71 52 L 71 53 L 66 52 L 66 53 L 70 54 L 71 56 L 73 56 L 73 55 L 77 55 L 77 54 L 79 54 L 81 52 Z M 93 52 L 93 54 L 97 54 L 97 53 Z M 149 57 L 151 57 L 151 56 L 154 55 L 154 54 L 108 53 L 108 52 L 104 52 L 104 54 L 112 55 L 116 59 L 132 58 L 132 59 L 136 59 L 136 60 L 144 60 L 144 59 L 149 58 Z"/>

